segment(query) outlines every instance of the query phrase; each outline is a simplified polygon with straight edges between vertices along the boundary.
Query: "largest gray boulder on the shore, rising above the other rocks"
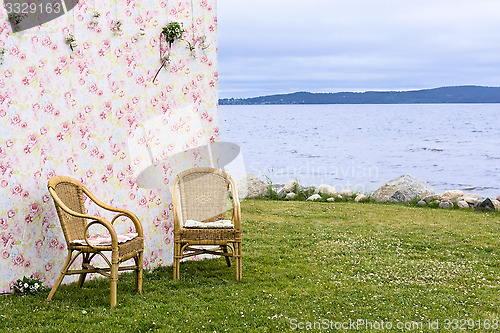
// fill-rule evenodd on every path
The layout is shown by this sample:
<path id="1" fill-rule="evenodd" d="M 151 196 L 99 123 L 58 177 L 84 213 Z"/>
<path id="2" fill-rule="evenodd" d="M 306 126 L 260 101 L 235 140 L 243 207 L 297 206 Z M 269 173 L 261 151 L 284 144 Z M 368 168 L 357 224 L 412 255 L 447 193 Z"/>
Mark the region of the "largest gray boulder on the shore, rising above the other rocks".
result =
<path id="1" fill-rule="evenodd" d="M 403 175 L 379 187 L 373 192 L 372 198 L 379 202 L 407 202 L 417 196 L 425 198 L 433 194 L 433 188 L 426 182 L 411 175 Z"/>

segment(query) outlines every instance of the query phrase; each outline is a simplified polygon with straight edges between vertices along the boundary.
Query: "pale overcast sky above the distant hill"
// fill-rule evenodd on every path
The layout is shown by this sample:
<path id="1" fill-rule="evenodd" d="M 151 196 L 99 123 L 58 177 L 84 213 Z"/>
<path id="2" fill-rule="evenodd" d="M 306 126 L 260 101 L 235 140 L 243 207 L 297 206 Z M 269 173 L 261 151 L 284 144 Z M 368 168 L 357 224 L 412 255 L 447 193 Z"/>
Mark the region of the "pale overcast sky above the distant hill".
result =
<path id="1" fill-rule="evenodd" d="M 219 97 L 500 86 L 500 0 L 218 0 Z"/>

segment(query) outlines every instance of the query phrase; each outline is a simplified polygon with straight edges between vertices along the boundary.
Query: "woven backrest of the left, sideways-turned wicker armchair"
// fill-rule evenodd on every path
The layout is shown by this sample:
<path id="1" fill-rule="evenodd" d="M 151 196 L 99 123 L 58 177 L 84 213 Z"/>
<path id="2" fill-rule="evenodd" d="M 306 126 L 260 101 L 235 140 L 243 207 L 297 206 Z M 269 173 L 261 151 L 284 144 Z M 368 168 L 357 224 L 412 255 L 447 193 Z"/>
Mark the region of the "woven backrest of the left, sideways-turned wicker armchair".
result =
<path id="1" fill-rule="evenodd" d="M 55 176 L 49 180 L 48 183 L 49 193 L 54 200 L 59 222 L 66 238 L 69 243 L 76 239 L 84 239 L 85 227 L 87 222 L 84 218 L 73 216 L 64 211 L 61 207 L 61 202 L 71 209 L 80 214 L 85 214 L 85 207 L 83 204 L 83 185 L 70 177 Z"/>

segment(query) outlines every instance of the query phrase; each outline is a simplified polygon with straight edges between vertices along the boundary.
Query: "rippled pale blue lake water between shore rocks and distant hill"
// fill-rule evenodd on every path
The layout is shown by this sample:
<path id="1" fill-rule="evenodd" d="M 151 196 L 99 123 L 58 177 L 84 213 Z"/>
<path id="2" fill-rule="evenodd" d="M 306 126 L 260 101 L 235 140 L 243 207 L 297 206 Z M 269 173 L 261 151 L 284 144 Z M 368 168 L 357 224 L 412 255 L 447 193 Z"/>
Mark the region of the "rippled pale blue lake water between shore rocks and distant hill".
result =
<path id="1" fill-rule="evenodd" d="M 370 193 L 403 174 L 500 194 L 500 104 L 223 105 L 220 141 L 273 183 Z"/>

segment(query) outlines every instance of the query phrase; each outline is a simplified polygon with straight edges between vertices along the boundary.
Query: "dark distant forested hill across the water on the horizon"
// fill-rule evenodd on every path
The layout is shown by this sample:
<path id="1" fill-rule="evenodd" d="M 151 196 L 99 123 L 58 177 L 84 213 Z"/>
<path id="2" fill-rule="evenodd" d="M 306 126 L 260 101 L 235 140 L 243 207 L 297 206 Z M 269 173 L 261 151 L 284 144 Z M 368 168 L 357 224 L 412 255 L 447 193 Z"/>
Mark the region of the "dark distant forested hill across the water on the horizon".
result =
<path id="1" fill-rule="evenodd" d="M 458 86 L 413 91 L 296 92 L 253 98 L 223 98 L 220 105 L 500 103 L 500 87 Z"/>

